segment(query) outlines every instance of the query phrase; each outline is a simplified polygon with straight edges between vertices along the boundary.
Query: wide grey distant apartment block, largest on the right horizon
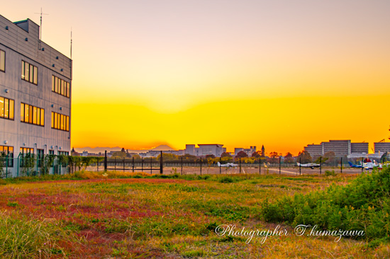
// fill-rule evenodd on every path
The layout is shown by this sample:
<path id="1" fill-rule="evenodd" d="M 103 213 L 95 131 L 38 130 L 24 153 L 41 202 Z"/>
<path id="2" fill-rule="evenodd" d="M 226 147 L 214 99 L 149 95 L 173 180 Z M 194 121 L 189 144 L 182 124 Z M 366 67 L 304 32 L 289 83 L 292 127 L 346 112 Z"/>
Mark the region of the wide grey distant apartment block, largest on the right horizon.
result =
<path id="1" fill-rule="evenodd" d="M 330 140 L 321 144 L 308 144 L 304 147 L 311 156 L 323 156 L 333 151 L 335 156 L 349 156 L 351 154 L 368 154 L 368 143 L 352 143 L 350 140 Z"/>

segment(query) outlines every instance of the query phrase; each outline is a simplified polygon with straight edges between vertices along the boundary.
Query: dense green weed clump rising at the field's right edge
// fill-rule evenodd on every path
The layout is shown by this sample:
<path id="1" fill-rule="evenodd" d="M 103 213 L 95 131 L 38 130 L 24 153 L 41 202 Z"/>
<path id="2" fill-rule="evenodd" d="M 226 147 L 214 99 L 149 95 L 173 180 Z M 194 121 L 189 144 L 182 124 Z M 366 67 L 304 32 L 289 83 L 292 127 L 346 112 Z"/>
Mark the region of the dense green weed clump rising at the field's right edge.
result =
<path id="1" fill-rule="evenodd" d="M 266 221 L 293 226 L 317 225 L 324 230 L 364 231 L 368 241 L 390 241 L 390 168 L 362 173 L 348 185 L 262 204 Z"/>

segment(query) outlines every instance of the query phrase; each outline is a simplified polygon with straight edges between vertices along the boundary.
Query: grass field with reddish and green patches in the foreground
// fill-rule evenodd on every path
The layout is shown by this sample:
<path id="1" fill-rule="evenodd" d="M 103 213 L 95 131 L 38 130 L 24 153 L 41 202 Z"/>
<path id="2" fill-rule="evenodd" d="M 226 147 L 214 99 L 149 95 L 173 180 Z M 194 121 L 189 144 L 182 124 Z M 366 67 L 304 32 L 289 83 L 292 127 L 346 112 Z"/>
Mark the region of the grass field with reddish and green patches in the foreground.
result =
<path id="1" fill-rule="evenodd" d="M 273 231 L 277 224 L 262 220 L 265 200 L 355 177 L 81 172 L 3 180 L 0 258 L 389 258 L 389 245 L 297 236 L 283 224 L 287 236 L 250 242 L 215 232 L 223 224 Z"/>

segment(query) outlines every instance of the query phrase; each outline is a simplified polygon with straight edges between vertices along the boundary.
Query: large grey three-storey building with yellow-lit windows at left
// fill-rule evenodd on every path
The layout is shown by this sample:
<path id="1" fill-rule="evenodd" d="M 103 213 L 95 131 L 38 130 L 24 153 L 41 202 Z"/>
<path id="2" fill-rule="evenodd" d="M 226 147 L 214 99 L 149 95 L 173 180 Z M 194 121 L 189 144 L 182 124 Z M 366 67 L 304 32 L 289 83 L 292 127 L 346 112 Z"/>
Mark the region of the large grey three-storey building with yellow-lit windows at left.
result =
<path id="1" fill-rule="evenodd" d="M 71 149 L 72 60 L 39 35 L 30 19 L 0 16 L 0 151 L 9 157 Z"/>

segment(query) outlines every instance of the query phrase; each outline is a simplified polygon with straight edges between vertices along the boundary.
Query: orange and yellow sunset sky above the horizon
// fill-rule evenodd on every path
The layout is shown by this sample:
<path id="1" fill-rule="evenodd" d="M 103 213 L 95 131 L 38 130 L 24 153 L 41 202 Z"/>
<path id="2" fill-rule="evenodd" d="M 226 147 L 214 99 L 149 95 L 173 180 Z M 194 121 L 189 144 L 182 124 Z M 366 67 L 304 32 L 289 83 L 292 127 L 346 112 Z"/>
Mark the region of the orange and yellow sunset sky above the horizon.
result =
<path id="1" fill-rule="evenodd" d="M 387 139 L 389 0 L 4 1 L 69 57 L 72 146 Z M 389 139 L 387 139 L 389 141 Z"/>

